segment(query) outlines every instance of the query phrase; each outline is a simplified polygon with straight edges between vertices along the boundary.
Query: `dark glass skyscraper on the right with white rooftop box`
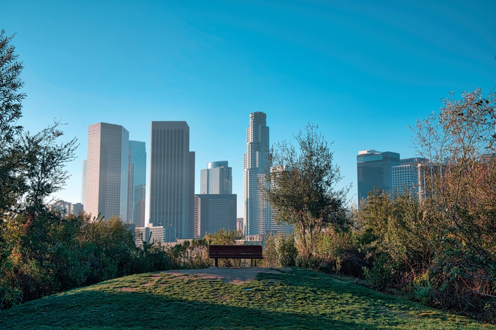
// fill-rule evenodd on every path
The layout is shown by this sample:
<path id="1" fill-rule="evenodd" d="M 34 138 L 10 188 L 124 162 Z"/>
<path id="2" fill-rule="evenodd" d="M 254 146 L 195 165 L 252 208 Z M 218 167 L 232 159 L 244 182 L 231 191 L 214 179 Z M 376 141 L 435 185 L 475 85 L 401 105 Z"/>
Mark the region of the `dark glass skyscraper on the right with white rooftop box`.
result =
<path id="1" fill-rule="evenodd" d="M 375 150 L 360 151 L 357 156 L 358 201 L 366 199 L 374 187 L 393 191 L 392 167 L 400 165 L 400 154 Z"/>

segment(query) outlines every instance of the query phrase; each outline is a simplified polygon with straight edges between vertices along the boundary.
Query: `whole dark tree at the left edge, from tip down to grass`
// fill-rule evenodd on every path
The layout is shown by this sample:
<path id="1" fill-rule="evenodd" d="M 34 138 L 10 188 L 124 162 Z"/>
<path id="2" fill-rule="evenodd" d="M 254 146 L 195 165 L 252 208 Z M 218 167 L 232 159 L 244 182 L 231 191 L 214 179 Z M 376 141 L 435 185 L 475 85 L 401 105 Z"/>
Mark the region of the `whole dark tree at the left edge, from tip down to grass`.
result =
<path id="1" fill-rule="evenodd" d="M 65 184 L 77 147 L 59 143 L 60 122 L 34 135 L 18 124 L 25 94 L 12 38 L 0 31 L 0 309 L 53 290 L 49 233 L 62 217 L 45 199 Z"/>

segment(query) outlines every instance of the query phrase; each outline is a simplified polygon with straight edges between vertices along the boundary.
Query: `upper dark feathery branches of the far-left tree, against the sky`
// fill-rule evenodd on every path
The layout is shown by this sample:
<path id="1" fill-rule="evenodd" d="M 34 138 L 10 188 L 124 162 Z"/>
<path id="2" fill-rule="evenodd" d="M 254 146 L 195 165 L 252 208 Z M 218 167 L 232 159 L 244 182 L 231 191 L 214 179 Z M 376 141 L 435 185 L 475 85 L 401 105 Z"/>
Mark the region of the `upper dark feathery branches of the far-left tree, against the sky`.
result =
<path id="1" fill-rule="evenodd" d="M 0 218 L 12 217 L 19 208 L 36 208 L 44 198 L 60 190 L 69 177 L 64 165 L 74 160 L 76 139 L 58 144 L 63 135 L 61 123 L 55 122 L 31 135 L 22 133 L 20 79 L 22 62 L 18 61 L 14 35 L 0 31 Z"/>

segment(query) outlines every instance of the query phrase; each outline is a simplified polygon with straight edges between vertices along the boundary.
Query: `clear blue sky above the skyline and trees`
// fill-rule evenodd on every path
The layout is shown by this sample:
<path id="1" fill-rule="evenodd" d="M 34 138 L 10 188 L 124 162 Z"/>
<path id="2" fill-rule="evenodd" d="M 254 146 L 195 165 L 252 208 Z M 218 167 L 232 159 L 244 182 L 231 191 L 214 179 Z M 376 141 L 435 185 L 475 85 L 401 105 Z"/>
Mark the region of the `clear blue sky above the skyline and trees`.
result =
<path id="1" fill-rule="evenodd" d="M 495 1 L 17 0 L 0 29 L 25 66 L 20 123 L 55 118 L 80 143 L 57 197 L 80 200 L 88 125 L 123 125 L 148 149 L 152 120 L 186 120 L 195 192 L 206 163 L 229 161 L 242 217 L 250 112 L 267 114 L 271 144 L 317 124 L 356 201 L 358 151 L 413 157 L 409 125 L 450 91 L 496 86 L 495 13 Z"/>

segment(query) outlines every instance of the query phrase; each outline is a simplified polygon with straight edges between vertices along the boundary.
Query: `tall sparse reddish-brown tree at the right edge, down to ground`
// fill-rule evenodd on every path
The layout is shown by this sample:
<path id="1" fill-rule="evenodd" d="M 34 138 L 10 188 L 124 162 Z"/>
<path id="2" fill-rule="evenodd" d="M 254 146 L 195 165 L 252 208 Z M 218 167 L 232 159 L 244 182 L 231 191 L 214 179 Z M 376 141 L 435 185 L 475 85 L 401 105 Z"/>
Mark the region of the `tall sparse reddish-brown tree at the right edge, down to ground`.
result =
<path id="1" fill-rule="evenodd" d="M 445 308 L 496 315 L 496 95 L 444 99 L 414 129 L 429 160 L 423 218 L 439 228 L 430 281 Z M 427 205 L 432 207 L 428 208 Z"/>

